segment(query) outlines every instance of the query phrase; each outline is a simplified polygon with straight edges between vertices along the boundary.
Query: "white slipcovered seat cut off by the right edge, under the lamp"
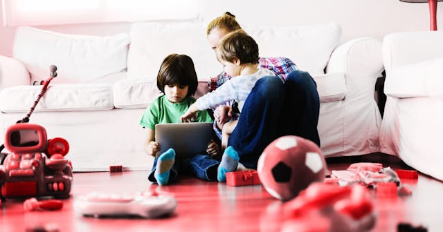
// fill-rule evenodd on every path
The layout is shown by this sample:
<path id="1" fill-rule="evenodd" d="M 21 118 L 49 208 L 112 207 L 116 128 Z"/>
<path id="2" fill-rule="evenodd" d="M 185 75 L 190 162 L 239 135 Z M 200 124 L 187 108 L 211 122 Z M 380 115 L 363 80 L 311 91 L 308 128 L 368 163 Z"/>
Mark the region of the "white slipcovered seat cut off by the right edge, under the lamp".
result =
<path id="1" fill-rule="evenodd" d="M 383 39 L 386 106 L 381 151 L 443 180 L 443 32 L 400 32 Z"/>

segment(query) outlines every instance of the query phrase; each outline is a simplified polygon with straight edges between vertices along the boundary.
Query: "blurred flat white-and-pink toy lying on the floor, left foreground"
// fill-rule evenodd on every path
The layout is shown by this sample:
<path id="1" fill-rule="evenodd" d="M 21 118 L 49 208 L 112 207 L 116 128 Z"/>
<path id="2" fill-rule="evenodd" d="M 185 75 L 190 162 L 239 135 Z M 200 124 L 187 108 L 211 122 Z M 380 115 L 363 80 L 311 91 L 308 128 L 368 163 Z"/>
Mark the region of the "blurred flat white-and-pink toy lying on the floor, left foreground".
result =
<path id="1" fill-rule="evenodd" d="M 74 209 L 85 216 L 158 218 L 172 213 L 177 200 L 170 195 L 141 193 L 117 195 L 111 193 L 89 193 L 74 200 Z"/>

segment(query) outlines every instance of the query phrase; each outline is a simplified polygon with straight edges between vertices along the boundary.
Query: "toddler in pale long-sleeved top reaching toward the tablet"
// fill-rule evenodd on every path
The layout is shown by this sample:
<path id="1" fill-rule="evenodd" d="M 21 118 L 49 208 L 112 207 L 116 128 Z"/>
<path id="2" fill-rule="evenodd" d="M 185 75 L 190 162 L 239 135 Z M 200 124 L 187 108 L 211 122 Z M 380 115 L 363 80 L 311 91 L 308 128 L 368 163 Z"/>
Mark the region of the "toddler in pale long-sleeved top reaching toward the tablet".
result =
<path id="1" fill-rule="evenodd" d="M 243 30 L 236 30 L 226 35 L 221 43 L 219 43 L 219 46 L 217 46 L 216 55 L 219 62 L 223 65 L 224 71 L 230 75 L 232 79 L 226 81 L 226 83 L 217 88 L 217 90 L 197 99 L 197 101 L 188 108 L 186 113 L 181 116 L 181 122 L 190 122 L 191 119 L 196 117 L 196 113 L 200 110 L 206 110 L 230 100 L 237 101 L 241 119 L 246 98 L 248 98 L 256 82 L 262 77 L 278 79 L 271 70 L 257 68 L 259 59 L 257 43 Z M 278 81 L 280 81 L 280 79 L 278 79 Z M 222 148 L 226 148 L 226 150 L 224 151 L 221 164 L 217 170 L 217 179 L 220 182 L 226 181 L 225 173 L 237 169 L 241 158 L 233 147 L 228 146 L 228 137 L 233 133 L 237 123 L 237 120 L 228 122 L 224 124 L 222 129 Z M 248 162 L 255 162 L 256 164 L 259 155 L 248 157 L 250 158 Z"/>

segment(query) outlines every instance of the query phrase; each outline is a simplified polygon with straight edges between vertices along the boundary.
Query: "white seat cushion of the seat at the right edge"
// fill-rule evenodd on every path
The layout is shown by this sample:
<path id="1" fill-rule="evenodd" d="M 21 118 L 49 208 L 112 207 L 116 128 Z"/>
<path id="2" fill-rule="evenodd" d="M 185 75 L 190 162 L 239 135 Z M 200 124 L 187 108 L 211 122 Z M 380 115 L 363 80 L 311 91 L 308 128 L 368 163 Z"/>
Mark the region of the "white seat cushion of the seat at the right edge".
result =
<path id="1" fill-rule="evenodd" d="M 394 66 L 386 71 L 384 93 L 391 97 L 443 96 L 443 58 Z"/>

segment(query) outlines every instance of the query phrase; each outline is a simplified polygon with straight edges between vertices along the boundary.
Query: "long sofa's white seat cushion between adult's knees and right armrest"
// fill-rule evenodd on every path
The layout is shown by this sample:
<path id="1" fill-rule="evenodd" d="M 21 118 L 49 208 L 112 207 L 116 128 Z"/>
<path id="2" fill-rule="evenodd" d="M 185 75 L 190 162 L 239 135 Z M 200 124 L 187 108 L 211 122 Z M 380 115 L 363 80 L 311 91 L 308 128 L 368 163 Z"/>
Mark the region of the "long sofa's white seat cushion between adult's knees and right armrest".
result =
<path id="1" fill-rule="evenodd" d="M 328 73 L 314 77 L 320 102 L 341 101 L 346 95 L 345 73 Z"/>

